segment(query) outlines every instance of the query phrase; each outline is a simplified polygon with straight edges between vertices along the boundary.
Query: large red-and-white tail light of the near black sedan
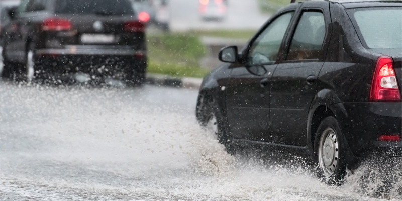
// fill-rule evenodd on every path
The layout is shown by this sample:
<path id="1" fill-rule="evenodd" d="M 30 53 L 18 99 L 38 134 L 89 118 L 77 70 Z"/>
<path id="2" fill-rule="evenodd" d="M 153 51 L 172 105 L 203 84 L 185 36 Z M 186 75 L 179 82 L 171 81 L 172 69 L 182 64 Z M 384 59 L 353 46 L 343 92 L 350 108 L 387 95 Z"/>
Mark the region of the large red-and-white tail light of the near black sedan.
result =
<path id="1" fill-rule="evenodd" d="M 381 56 L 377 60 L 371 82 L 371 101 L 400 101 L 400 91 L 392 66 L 392 58 Z"/>

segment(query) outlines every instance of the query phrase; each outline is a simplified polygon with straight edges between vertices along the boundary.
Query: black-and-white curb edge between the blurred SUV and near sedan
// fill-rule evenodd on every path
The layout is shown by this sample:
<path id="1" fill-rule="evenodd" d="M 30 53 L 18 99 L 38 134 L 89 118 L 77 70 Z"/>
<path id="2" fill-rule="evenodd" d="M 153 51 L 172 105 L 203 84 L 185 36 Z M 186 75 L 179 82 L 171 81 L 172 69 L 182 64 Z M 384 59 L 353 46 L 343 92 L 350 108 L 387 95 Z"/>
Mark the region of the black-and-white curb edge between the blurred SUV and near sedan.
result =
<path id="1" fill-rule="evenodd" d="M 145 82 L 158 86 L 199 89 L 201 83 L 203 82 L 203 79 L 192 77 L 176 78 L 168 75 L 147 73 Z"/>

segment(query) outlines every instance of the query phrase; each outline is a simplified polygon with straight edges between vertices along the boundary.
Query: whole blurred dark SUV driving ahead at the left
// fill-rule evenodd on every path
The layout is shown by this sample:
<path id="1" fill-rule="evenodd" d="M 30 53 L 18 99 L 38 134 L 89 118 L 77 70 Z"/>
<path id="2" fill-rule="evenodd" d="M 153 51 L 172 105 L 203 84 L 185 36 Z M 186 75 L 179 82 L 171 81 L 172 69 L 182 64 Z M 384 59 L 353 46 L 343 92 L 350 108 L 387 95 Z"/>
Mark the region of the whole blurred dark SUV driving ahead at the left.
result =
<path id="1" fill-rule="evenodd" d="M 8 13 L 3 77 L 143 82 L 145 24 L 129 0 L 23 0 Z"/>

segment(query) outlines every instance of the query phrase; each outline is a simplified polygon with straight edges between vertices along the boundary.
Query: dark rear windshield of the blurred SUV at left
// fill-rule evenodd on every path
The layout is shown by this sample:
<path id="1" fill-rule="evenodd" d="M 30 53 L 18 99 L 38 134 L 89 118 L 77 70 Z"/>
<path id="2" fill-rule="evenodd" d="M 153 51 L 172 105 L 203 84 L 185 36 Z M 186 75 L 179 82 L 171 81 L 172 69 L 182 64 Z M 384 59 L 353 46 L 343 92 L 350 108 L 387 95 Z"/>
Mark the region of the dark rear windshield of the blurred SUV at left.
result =
<path id="1" fill-rule="evenodd" d="M 57 0 L 56 13 L 59 14 L 96 14 L 96 15 L 133 15 L 128 0 Z"/>

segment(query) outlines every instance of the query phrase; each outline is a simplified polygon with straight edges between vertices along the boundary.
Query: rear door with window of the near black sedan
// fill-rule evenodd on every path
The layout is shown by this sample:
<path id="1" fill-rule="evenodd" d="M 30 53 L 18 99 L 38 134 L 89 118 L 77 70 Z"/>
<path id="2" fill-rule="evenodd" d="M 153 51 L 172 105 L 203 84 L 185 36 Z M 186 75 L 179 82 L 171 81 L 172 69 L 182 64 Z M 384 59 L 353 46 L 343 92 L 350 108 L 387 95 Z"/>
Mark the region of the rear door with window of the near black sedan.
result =
<path id="1" fill-rule="evenodd" d="M 270 114 L 275 141 L 306 146 L 307 116 L 330 38 L 328 2 L 304 2 L 294 32 L 271 79 Z M 317 2 L 314 2 L 317 4 Z"/>

